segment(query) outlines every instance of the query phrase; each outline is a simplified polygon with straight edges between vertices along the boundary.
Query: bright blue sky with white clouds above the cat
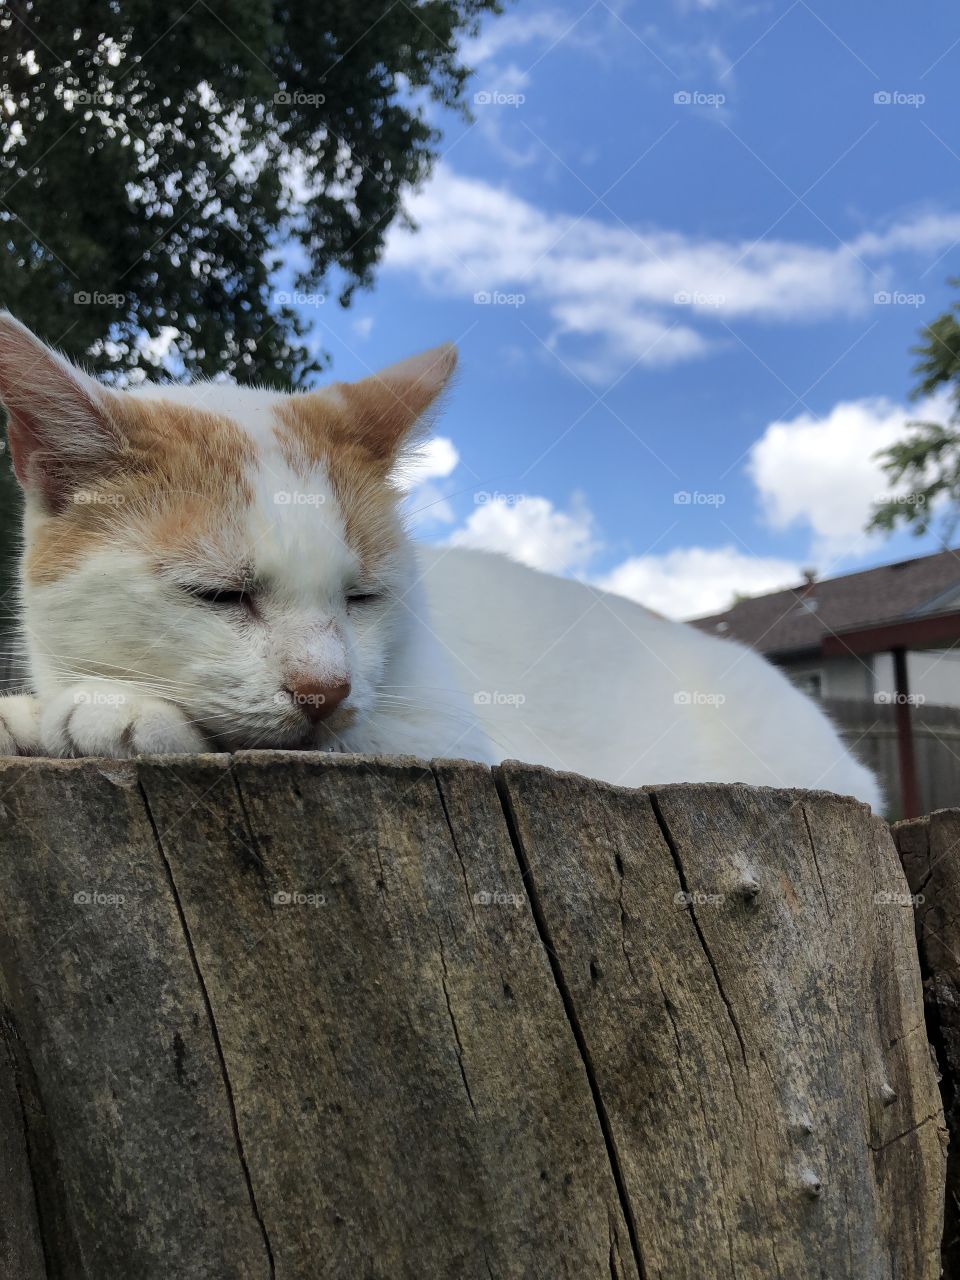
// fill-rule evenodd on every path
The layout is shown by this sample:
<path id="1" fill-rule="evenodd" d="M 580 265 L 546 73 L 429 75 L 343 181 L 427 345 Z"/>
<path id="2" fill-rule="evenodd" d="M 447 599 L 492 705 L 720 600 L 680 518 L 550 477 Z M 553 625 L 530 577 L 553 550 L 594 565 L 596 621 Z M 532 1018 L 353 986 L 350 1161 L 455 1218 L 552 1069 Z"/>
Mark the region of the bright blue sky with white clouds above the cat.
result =
<path id="1" fill-rule="evenodd" d="M 338 378 L 460 346 L 419 536 L 678 617 L 936 549 L 861 527 L 960 274 L 960 13 L 526 0 L 465 55 L 419 230 L 306 308 Z"/>

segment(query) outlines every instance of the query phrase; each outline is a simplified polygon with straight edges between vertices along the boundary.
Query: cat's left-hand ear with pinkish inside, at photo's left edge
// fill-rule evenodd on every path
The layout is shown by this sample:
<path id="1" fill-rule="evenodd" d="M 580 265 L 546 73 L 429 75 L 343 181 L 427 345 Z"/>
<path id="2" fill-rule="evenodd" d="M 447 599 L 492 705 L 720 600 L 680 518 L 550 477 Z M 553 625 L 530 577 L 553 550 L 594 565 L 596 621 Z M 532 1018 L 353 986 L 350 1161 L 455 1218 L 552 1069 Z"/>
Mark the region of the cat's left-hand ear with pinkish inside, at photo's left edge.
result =
<path id="1" fill-rule="evenodd" d="M 0 311 L 0 402 L 17 479 L 50 512 L 120 448 L 110 393 Z"/>

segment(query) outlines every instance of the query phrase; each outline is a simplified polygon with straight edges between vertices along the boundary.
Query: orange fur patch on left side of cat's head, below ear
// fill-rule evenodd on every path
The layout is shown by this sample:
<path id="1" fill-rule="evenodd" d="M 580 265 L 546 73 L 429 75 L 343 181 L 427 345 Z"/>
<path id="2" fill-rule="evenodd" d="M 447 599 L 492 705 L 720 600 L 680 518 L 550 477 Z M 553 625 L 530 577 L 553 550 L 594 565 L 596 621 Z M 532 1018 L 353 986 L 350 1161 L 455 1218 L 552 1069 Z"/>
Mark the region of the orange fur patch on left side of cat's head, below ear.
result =
<path id="1" fill-rule="evenodd" d="M 133 534 L 160 559 L 216 534 L 230 509 L 252 500 L 253 442 L 230 419 L 164 399 L 113 396 L 122 445 L 95 481 L 31 527 L 24 572 L 52 582 L 92 550 Z"/>

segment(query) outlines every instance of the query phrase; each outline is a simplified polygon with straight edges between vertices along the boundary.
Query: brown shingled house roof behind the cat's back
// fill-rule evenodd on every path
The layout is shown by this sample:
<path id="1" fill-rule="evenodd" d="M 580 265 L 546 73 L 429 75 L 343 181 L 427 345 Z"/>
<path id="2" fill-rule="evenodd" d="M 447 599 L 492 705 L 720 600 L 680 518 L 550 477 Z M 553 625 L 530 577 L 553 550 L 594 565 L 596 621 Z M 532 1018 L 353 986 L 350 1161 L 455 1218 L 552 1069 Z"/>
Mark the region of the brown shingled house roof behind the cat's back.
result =
<path id="1" fill-rule="evenodd" d="M 692 626 L 765 654 L 819 650 L 826 636 L 960 609 L 960 548 L 737 600 Z"/>

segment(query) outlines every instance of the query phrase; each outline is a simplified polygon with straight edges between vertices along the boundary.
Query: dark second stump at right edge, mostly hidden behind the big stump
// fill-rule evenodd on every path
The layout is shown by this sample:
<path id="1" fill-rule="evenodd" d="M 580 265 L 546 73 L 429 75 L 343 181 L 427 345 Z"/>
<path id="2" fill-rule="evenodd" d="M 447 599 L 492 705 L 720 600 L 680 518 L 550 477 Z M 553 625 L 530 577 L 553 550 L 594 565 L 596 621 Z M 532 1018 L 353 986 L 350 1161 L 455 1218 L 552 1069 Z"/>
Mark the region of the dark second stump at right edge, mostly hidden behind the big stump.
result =
<path id="1" fill-rule="evenodd" d="M 943 1276 L 960 1280 L 960 810 L 900 822 L 893 838 L 913 897 L 927 1029 L 951 1139 Z"/>

